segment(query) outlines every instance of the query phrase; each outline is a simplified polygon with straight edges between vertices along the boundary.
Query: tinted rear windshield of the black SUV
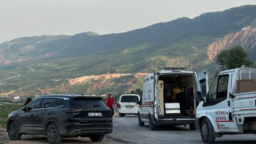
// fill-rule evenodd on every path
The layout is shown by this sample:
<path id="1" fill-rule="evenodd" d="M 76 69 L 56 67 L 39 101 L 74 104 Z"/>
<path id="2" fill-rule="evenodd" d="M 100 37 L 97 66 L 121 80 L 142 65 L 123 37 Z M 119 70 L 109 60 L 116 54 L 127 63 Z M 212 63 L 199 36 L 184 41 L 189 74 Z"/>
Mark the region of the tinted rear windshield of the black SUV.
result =
<path id="1" fill-rule="evenodd" d="M 86 107 L 106 107 L 106 104 L 100 98 L 74 98 L 72 101 L 73 107 L 86 108 Z"/>

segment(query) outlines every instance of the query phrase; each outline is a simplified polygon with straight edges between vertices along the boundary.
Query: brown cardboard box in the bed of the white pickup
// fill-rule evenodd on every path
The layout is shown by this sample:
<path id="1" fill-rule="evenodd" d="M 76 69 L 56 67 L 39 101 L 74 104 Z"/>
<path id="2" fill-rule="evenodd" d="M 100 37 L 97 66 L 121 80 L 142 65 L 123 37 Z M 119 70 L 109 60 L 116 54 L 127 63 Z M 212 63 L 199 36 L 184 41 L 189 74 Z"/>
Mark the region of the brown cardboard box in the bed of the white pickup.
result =
<path id="1" fill-rule="evenodd" d="M 254 92 L 254 91 L 256 91 L 256 79 L 236 81 L 237 93 Z"/>

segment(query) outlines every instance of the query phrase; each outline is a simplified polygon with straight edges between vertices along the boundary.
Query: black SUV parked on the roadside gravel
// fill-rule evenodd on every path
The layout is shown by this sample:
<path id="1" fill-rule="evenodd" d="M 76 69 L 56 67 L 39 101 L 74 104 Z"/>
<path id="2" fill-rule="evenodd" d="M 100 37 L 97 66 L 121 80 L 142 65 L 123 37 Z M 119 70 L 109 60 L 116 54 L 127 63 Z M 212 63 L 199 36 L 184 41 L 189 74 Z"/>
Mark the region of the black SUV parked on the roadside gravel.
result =
<path id="1" fill-rule="evenodd" d="M 11 112 L 6 128 L 11 140 L 19 140 L 22 134 L 40 134 L 51 144 L 78 136 L 100 142 L 112 133 L 112 112 L 98 96 L 45 95 Z"/>

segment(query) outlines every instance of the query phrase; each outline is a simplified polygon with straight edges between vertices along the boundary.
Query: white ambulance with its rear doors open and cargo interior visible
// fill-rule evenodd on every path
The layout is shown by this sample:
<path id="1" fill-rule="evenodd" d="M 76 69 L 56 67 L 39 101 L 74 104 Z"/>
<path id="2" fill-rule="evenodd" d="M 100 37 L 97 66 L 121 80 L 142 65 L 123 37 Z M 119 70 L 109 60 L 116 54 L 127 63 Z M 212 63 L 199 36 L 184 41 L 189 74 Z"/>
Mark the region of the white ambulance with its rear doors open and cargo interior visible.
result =
<path id="1" fill-rule="evenodd" d="M 159 72 L 149 74 L 144 79 L 142 97 L 136 104 L 140 104 L 138 111 L 139 126 L 149 123 L 150 130 L 157 125 L 189 124 L 191 130 L 196 130 L 195 118 L 198 102 L 196 91 L 206 93 L 206 71 L 200 74 L 198 80 L 196 72 L 186 71 L 186 68 L 164 68 Z M 200 83 L 203 84 L 202 88 Z M 178 88 L 184 92 L 182 102 L 172 102 L 172 90 Z"/>

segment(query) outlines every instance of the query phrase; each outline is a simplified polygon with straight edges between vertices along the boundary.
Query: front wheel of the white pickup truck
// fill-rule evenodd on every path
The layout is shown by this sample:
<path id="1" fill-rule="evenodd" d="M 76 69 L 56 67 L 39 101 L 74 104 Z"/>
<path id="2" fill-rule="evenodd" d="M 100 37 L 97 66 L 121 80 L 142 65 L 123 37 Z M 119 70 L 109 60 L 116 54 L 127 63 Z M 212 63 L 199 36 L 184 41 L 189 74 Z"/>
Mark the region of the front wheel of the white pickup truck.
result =
<path id="1" fill-rule="evenodd" d="M 211 144 L 214 142 L 214 130 L 209 119 L 205 118 L 201 123 L 201 137 L 204 143 Z"/>

